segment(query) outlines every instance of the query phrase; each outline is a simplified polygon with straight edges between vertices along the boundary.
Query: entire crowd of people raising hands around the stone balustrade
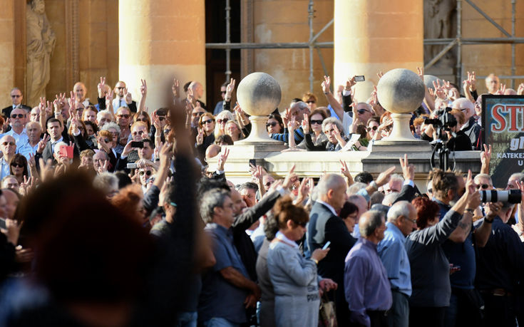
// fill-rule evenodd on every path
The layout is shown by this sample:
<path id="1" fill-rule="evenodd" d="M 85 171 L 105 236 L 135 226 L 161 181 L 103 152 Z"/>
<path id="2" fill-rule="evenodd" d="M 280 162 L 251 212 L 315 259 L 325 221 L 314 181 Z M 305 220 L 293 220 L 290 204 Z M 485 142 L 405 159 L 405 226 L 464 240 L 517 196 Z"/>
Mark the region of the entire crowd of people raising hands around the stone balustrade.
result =
<path id="1" fill-rule="evenodd" d="M 411 130 L 483 150 L 481 173 L 418 172 L 426 193 L 408 155 L 402 174 L 351 175 L 341 161 L 340 174 L 292 167 L 276 180 L 253 165 L 235 185 L 225 162 L 251 130 L 231 103 L 235 83 L 212 111 L 198 81 L 183 96 L 175 79 L 171 105 L 154 110 L 143 80 L 133 100 L 123 81 L 101 78 L 94 104 L 81 82 L 34 108 L 11 91 L 0 119 L 1 326 L 524 324 L 524 207 L 481 201 L 495 189 L 475 73 L 463 88 L 426 88 Z M 355 85 L 332 93 L 326 76 L 329 105 L 305 93 L 269 115 L 269 137 L 287 151 L 371 150 L 393 120 L 376 88 L 359 102 Z M 486 87 L 524 93 L 493 74 Z M 447 107 L 455 124 L 426 123 Z M 506 190 L 524 201 L 524 174 Z"/>

